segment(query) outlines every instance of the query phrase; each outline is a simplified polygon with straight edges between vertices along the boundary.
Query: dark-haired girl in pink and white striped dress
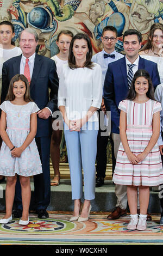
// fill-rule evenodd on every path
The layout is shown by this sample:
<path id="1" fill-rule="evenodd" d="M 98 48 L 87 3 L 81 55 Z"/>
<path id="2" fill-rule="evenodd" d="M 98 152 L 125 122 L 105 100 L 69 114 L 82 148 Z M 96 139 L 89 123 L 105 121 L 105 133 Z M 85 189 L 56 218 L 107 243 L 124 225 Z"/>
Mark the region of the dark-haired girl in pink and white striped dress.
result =
<path id="1" fill-rule="evenodd" d="M 149 204 L 149 186 L 163 183 L 159 147 L 161 104 L 154 100 L 154 89 L 146 70 L 138 70 L 126 100 L 121 101 L 121 144 L 113 181 L 127 185 L 131 221 L 130 230 L 145 230 Z M 137 216 L 139 187 L 140 218 Z M 138 224 L 137 224 L 138 223 Z"/>

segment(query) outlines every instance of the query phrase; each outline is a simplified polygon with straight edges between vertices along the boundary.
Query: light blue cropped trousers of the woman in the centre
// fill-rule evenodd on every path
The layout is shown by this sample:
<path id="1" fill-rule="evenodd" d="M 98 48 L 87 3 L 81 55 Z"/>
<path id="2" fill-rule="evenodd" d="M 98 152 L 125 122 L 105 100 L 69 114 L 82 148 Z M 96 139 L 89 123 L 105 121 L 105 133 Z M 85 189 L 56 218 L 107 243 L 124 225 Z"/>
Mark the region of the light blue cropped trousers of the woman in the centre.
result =
<path id="1" fill-rule="evenodd" d="M 88 124 L 93 126 L 93 129 L 90 130 Z M 82 167 L 84 173 L 84 198 L 86 200 L 95 199 L 98 122 L 86 123 L 82 128 L 80 132 L 70 132 L 67 125 L 64 124 L 71 176 L 72 200 L 82 198 Z"/>

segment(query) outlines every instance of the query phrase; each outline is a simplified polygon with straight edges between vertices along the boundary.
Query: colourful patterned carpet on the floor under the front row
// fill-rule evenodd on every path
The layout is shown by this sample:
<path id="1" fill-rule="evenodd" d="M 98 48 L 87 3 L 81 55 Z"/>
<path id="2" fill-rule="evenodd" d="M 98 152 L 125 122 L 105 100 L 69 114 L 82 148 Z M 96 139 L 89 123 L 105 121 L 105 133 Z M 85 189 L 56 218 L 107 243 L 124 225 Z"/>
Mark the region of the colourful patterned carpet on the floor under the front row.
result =
<path id="1" fill-rule="evenodd" d="M 89 221 L 78 223 L 69 221 L 70 214 L 50 213 L 46 220 L 30 214 L 26 226 L 16 219 L 0 224 L 0 245 L 163 245 L 159 215 L 152 216 L 146 231 L 127 230 L 129 216 L 108 221 L 107 215 L 91 214 Z"/>

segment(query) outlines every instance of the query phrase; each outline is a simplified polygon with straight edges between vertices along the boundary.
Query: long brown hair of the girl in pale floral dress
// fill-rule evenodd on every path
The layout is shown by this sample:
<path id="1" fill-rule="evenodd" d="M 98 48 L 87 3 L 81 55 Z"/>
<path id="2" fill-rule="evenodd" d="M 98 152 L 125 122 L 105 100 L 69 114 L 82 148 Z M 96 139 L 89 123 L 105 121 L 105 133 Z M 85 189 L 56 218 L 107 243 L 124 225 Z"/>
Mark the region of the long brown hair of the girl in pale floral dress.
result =
<path id="1" fill-rule="evenodd" d="M 27 80 L 26 76 L 24 76 L 22 74 L 17 74 L 14 77 L 11 78 L 8 94 L 5 98 L 5 100 L 9 100 L 9 101 L 15 100 L 15 95 L 13 93 L 13 86 L 14 86 L 14 83 L 18 82 L 18 81 L 22 81 L 26 84 L 26 93 L 24 94 L 24 101 L 26 101 L 26 102 L 33 101 L 30 97 L 30 90 L 29 90 L 28 80 Z"/>

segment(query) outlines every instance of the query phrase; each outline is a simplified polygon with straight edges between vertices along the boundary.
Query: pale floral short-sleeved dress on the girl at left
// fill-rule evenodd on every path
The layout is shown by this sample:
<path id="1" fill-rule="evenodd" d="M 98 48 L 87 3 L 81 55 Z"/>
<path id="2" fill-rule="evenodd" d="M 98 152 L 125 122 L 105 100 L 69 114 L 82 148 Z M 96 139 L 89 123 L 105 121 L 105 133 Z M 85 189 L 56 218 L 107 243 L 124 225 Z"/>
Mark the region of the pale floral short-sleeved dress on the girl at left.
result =
<path id="1" fill-rule="evenodd" d="M 7 134 L 15 147 L 21 147 L 30 132 L 30 115 L 39 111 L 34 102 L 14 105 L 4 101 L 0 108 L 7 114 Z M 0 175 L 33 176 L 42 173 L 39 151 L 35 139 L 22 152 L 20 157 L 12 157 L 8 146 L 2 142 L 0 150 Z"/>

